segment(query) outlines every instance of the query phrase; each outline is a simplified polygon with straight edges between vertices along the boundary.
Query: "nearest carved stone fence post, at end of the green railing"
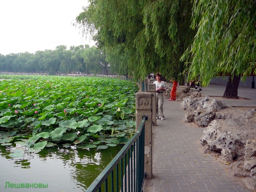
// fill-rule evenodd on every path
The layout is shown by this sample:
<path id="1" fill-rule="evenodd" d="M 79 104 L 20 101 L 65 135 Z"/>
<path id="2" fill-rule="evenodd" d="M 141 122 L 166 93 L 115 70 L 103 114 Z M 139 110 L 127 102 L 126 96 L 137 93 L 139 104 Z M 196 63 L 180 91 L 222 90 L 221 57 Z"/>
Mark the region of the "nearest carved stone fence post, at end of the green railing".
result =
<path id="1" fill-rule="evenodd" d="M 136 93 L 136 129 L 142 122 L 142 117 L 147 116 L 145 122 L 145 152 L 144 171 L 145 179 L 152 179 L 152 93 Z"/>

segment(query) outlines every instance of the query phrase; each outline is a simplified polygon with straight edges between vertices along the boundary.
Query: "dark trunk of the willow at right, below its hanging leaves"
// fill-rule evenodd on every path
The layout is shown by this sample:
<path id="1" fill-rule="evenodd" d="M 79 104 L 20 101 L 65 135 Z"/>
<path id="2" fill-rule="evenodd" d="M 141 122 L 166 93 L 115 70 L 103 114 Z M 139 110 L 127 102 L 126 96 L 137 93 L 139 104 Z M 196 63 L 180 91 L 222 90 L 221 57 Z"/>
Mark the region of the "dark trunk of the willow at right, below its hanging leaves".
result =
<path id="1" fill-rule="evenodd" d="M 241 77 L 241 74 L 239 74 L 238 76 L 234 76 L 232 80 L 231 76 L 229 76 L 227 87 L 223 95 L 224 98 L 239 99 L 237 90 L 240 82 L 240 77 Z"/>

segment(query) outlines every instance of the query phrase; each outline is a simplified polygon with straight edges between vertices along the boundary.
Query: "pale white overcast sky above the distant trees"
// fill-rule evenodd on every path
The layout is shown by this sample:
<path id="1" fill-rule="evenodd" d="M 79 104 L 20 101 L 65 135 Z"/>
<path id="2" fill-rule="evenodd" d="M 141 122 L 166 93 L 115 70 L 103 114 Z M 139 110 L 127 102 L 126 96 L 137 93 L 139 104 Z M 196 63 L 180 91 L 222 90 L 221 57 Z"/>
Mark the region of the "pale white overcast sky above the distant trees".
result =
<path id="1" fill-rule="evenodd" d="M 0 54 L 94 45 L 72 25 L 87 0 L 0 0 Z"/>

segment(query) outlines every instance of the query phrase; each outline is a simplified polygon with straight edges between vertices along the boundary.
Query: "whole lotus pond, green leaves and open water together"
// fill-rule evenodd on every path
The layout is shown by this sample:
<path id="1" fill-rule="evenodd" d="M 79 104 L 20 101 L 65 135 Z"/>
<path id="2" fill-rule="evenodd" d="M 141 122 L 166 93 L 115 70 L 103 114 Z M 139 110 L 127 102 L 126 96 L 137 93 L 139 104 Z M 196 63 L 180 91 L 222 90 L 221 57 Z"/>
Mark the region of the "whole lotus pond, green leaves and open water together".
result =
<path id="1" fill-rule="evenodd" d="M 61 187 L 48 186 L 50 191 L 83 191 L 135 131 L 138 87 L 132 82 L 62 76 L 0 79 L 0 190 L 9 181 Z"/>

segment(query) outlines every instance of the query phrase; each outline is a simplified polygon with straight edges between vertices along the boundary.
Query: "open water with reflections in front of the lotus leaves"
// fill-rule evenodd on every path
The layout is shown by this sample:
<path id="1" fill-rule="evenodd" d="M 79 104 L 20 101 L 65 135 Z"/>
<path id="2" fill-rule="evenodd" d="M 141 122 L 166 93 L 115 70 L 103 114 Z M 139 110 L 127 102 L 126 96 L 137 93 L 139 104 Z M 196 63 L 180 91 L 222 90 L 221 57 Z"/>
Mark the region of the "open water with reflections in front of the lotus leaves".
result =
<path id="1" fill-rule="evenodd" d="M 37 191 L 85 191 L 105 166 L 115 157 L 120 147 L 104 150 L 65 148 L 54 146 L 39 153 L 11 158 L 8 155 L 24 146 L 0 146 L 0 191 L 17 191 L 4 188 L 10 183 L 44 183 L 48 188 Z M 18 191 L 34 191 L 20 188 Z"/>

